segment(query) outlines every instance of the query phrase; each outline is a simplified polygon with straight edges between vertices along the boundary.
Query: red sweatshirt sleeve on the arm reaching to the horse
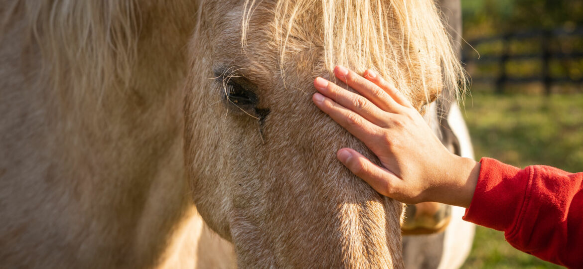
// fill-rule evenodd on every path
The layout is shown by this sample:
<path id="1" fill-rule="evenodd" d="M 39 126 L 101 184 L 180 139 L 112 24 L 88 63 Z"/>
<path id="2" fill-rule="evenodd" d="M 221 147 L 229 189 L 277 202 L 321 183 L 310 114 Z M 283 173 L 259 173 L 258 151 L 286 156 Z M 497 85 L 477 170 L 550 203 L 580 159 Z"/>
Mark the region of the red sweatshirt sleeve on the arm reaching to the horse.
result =
<path id="1" fill-rule="evenodd" d="M 482 158 L 464 220 L 504 231 L 508 243 L 540 259 L 583 268 L 583 172 L 519 169 Z"/>

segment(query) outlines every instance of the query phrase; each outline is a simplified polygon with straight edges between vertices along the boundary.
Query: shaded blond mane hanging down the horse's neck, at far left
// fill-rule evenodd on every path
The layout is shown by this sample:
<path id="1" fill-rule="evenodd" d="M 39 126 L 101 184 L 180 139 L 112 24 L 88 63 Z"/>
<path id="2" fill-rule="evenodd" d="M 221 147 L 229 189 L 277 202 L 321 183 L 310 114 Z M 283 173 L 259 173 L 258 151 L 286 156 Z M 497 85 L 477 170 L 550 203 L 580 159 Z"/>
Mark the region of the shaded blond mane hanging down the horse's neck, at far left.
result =
<path id="1" fill-rule="evenodd" d="M 42 59 L 38 83 L 71 90 L 71 100 L 131 79 L 138 38 L 135 1 L 18 0 L 2 12 L 0 37 L 10 17 L 27 18 L 30 45 Z M 117 83 L 113 83 L 117 82 Z M 93 90 L 93 91 L 92 91 Z M 100 100 L 93 100 L 99 102 Z"/>

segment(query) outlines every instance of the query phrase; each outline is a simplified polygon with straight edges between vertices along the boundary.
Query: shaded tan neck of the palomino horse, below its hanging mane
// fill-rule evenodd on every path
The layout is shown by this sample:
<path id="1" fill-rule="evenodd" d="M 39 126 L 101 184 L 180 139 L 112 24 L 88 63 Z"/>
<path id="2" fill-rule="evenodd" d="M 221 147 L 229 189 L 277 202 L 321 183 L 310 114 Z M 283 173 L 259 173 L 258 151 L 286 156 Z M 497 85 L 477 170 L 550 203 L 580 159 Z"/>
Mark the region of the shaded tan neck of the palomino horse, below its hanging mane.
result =
<path id="1" fill-rule="evenodd" d="M 15 42 L 0 47 L 0 55 L 12 55 L 0 63 L 0 95 L 9 97 L 0 107 L 13 116 L 0 122 L 7 136 L 0 148 L 10 153 L 0 156 L 0 195 L 10 208 L 0 213 L 0 236 L 26 234 L 0 245 L 20 250 L 9 253 L 8 267 L 36 267 L 27 259 L 33 254 L 55 267 L 152 266 L 172 231 L 194 215 L 181 89 L 196 10 L 184 2 L 142 2 L 134 10 L 141 23 L 131 79 L 103 91 L 29 83 L 51 63 L 35 61 L 47 56 L 44 40 L 31 43 L 24 7 L 13 10 L 5 34 Z"/>

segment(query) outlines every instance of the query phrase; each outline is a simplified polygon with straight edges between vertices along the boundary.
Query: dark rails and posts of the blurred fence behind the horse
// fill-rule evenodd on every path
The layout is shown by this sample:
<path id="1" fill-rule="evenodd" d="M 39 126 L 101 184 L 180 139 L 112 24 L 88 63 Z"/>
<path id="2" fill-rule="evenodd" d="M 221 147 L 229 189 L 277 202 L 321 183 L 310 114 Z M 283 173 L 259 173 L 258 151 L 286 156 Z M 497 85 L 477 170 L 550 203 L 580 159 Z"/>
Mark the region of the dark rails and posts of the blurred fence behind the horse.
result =
<path id="1" fill-rule="evenodd" d="M 511 45 L 519 42 L 524 42 L 535 38 L 538 40 L 539 52 L 524 52 L 512 53 Z M 583 43 L 583 27 L 578 27 L 573 30 L 554 29 L 554 30 L 530 30 L 515 33 L 501 34 L 491 37 L 476 38 L 470 40 L 468 43 L 472 47 L 479 47 L 485 45 L 492 45 L 494 43 L 501 43 L 501 52 L 498 54 L 484 54 L 480 57 L 477 54 L 472 54 L 473 49 L 465 49 L 462 54 L 462 61 L 468 66 L 492 65 L 497 63 L 496 76 L 472 76 L 473 82 L 480 83 L 494 83 L 496 85 L 496 92 L 503 93 L 505 85 L 508 83 L 543 83 L 545 93 L 550 94 L 552 86 L 555 83 L 583 83 L 583 76 L 553 76 L 550 70 L 550 63 L 553 60 L 561 61 L 576 61 L 583 59 L 583 51 L 568 51 L 563 52 L 553 48 L 553 43 L 564 38 L 579 39 Z M 535 41 L 536 42 L 536 41 Z M 575 48 L 575 49 L 583 49 Z M 538 75 L 518 77 L 509 75 L 507 69 L 508 62 L 521 62 L 537 60 L 540 62 L 540 73 Z"/>

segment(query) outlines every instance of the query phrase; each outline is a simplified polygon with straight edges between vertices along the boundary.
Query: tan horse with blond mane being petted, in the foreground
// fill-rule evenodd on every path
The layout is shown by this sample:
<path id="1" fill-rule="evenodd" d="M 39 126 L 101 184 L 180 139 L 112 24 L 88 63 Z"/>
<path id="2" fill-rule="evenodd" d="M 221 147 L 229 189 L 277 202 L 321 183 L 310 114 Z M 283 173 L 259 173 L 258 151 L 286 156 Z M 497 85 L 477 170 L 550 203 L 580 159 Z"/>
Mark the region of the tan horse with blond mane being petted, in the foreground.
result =
<path id="1" fill-rule="evenodd" d="M 374 155 L 310 103 L 310 81 L 374 68 L 420 111 L 458 89 L 433 1 L 0 13 L 3 267 L 403 268 L 403 205 L 335 160 Z"/>

